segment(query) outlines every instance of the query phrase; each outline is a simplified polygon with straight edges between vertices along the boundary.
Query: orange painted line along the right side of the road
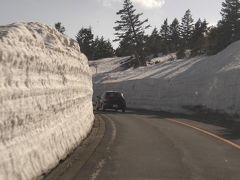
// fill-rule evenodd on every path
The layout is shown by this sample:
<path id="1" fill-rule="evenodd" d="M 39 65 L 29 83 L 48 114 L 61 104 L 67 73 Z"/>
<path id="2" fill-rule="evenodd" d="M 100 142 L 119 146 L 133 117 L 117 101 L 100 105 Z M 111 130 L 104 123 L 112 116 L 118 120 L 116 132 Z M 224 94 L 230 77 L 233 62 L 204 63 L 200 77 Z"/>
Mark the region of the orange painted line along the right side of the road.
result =
<path id="1" fill-rule="evenodd" d="M 227 139 L 224 139 L 224 138 L 222 138 L 222 137 L 220 137 L 220 136 L 218 136 L 218 135 L 216 135 L 216 134 L 213 134 L 213 133 L 211 133 L 211 132 L 208 132 L 208 131 L 206 131 L 206 130 L 204 130 L 204 129 L 201 129 L 201 128 L 192 126 L 192 125 L 190 125 L 190 124 L 187 124 L 187 123 L 184 123 L 184 122 L 180 122 L 180 121 L 174 120 L 174 119 L 170 119 L 170 118 L 165 118 L 165 119 L 168 120 L 168 121 L 171 121 L 171 122 L 175 122 L 175 123 L 177 123 L 177 124 L 181 124 L 181 125 L 183 125 L 183 126 L 190 127 L 190 128 L 195 129 L 195 130 L 197 130 L 197 131 L 200 131 L 200 132 L 202 132 L 202 133 L 204 133 L 204 134 L 207 134 L 207 135 L 209 135 L 209 136 L 212 136 L 212 137 L 214 137 L 214 138 L 216 138 L 216 139 L 218 139 L 218 140 L 220 140 L 220 141 L 223 141 L 223 142 L 225 142 L 225 143 L 227 143 L 227 144 L 229 144 L 229 145 L 231 145 L 231 146 L 233 146 L 233 147 L 235 147 L 235 148 L 237 148 L 237 149 L 240 150 L 240 145 L 238 145 L 238 144 L 236 144 L 236 143 L 234 143 L 234 142 L 232 142 L 232 141 L 229 141 L 229 140 L 227 140 Z"/>

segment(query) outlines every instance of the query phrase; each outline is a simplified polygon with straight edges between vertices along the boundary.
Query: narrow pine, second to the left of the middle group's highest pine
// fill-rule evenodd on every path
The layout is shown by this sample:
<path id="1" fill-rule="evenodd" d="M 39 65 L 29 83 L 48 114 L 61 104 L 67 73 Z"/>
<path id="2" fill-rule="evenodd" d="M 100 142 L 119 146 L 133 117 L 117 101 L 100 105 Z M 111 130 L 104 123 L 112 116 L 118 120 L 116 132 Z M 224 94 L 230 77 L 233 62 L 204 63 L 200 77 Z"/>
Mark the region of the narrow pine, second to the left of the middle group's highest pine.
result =
<path id="1" fill-rule="evenodd" d="M 168 19 L 165 19 L 160 29 L 160 38 L 162 42 L 161 51 L 163 54 L 169 53 L 169 37 L 170 37 L 170 28 L 168 25 Z"/>

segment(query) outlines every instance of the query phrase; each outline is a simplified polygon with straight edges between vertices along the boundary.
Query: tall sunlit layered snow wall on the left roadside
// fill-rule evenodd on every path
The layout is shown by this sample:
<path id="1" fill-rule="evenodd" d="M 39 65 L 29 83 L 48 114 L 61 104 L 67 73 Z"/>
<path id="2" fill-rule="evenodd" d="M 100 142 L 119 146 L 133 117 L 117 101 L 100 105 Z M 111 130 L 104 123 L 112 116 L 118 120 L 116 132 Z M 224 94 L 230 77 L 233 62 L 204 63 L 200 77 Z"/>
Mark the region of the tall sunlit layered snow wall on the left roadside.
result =
<path id="1" fill-rule="evenodd" d="M 77 42 L 54 28 L 0 26 L 0 179 L 34 179 L 86 137 L 91 78 Z"/>

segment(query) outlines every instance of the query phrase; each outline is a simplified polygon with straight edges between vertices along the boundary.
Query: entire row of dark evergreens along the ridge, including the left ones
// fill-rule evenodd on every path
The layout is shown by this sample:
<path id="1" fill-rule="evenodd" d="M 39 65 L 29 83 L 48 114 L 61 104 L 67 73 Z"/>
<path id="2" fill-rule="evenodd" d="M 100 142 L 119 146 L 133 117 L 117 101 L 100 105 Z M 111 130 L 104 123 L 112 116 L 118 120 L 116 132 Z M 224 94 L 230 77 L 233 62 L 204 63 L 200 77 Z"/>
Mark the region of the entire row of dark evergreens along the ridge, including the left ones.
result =
<path id="1" fill-rule="evenodd" d="M 150 27 L 148 19 L 141 20 L 143 13 L 136 13 L 131 0 L 124 0 L 123 8 L 117 12 L 119 20 L 115 22 L 115 41 L 119 42 L 116 51 L 109 40 L 96 37 L 91 28 L 82 28 L 76 35 L 81 51 L 89 60 L 117 56 L 131 56 L 131 66 L 146 65 L 149 55 L 177 53 L 184 58 L 186 50 L 191 56 L 216 54 L 234 41 L 240 40 L 240 2 L 225 0 L 221 9 L 222 19 L 216 26 L 208 26 L 207 21 L 194 22 L 188 9 L 181 20 L 169 22 L 165 19 L 160 28 L 154 28 L 150 35 L 145 30 Z M 65 32 L 61 23 L 55 28 Z"/>

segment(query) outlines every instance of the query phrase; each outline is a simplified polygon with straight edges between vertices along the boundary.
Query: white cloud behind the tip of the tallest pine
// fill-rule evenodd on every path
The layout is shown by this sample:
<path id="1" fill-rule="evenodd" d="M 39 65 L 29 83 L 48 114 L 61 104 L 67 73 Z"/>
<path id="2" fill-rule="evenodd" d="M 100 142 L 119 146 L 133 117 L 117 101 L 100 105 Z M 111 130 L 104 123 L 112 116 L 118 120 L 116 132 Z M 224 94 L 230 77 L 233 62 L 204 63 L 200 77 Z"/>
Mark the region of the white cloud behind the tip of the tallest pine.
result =
<path id="1" fill-rule="evenodd" d="M 111 7 L 116 2 L 123 2 L 122 0 L 98 0 L 103 6 Z M 135 4 L 139 4 L 144 8 L 159 8 L 165 4 L 165 0 L 132 0 Z"/>

